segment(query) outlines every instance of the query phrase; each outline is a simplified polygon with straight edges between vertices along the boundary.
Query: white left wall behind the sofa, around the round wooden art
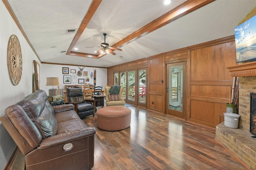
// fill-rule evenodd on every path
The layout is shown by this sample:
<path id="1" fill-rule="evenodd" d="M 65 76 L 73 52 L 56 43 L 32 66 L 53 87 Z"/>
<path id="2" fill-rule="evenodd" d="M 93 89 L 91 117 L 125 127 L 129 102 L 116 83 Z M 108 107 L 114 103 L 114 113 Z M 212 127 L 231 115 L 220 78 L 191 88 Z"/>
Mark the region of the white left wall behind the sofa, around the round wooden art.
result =
<path id="1" fill-rule="evenodd" d="M 7 47 L 12 34 L 18 37 L 22 51 L 22 78 L 17 86 L 12 85 L 7 68 Z M 6 107 L 32 93 L 33 60 L 40 63 L 3 2 L 0 1 L 0 116 L 4 115 Z M 4 169 L 15 147 L 16 144 L 0 122 L 0 170 Z"/>

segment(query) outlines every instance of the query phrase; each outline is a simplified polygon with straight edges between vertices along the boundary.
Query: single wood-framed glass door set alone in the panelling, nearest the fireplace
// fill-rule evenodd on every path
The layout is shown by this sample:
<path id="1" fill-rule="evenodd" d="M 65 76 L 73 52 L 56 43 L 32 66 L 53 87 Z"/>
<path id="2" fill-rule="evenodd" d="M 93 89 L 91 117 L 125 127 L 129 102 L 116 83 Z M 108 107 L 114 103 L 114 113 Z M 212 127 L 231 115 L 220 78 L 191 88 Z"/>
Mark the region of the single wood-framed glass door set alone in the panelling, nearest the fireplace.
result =
<path id="1" fill-rule="evenodd" d="M 185 118 L 183 98 L 185 62 L 166 65 L 166 114 Z"/>

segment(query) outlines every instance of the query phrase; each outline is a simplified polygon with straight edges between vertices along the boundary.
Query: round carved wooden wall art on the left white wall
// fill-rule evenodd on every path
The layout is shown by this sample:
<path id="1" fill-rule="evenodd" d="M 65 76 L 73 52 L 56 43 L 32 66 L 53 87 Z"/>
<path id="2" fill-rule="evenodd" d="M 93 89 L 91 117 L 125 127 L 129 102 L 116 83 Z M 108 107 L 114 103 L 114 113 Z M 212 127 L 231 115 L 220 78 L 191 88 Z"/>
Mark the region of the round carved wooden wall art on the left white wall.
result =
<path id="1" fill-rule="evenodd" d="M 12 84 L 18 85 L 22 76 L 22 53 L 16 35 L 11 35 L 8 42 L 7 67 Z"/>

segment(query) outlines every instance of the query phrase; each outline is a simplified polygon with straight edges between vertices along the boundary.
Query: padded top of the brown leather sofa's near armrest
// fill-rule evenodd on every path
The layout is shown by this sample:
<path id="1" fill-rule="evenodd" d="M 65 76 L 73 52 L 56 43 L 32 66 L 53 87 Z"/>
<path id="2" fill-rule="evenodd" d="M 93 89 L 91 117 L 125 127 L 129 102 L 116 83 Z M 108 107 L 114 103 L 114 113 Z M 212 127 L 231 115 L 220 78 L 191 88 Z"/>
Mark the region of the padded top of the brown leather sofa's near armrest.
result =
<path id="1" fill-rule="evenodd" d="M 38 149 L 46 149 L 63 143 L 69 143 L 78 139 L 90 137 L 96 133 L 94 127 L 84 127 L 82 129 L 70 130 L 65 133 L 60 133 L 42 140 Z"/>

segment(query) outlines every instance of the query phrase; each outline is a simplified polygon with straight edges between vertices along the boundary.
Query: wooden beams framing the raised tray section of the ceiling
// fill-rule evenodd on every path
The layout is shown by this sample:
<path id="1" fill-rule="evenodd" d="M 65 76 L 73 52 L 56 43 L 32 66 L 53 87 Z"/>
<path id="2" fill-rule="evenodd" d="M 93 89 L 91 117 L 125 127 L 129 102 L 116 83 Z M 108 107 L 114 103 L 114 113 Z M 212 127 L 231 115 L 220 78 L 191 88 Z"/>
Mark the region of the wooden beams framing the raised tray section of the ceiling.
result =
<path id="1" fill-rule="evenodd" d="M 181 18 L 182 16 L 185 16 L 186 14 L 189 14 L 190 12 L 193 12 L 207 4 L 210 4 L 213 1 L 215 1 L 215 0 L 187 0 L 186 2 L 184 2 L 183 4 L 180 4 L 173 10 L 167 12 L 166 14 L 157 18 L 156 20 L 154 20 L 154 21 L 148 23 L 147 25 L 145 25 L 144 27 L 138 29 L 134 33 L 128 35 L 127 37 L 125 37 L 124 39 L 119 41 L 118 43 L 111 45 L 111 47 L 120 48 L 120 47 L 122 47 L 140 37 L 143 37 L 144 35 L 152 32 L 152 31 L 154 31 L 172 21 L 177 20 L 178 18 Z M 84 17 L 84 20 L 82 21 L 78 31 L 76 32 L 76 35 L 66 53 L 66 55 L 90 57 L 90 58 L 97 58 L 97 59 L 106 55 L 106 54 L 94 55 L 94 54 L 78 53 L 78 52 L 72 51 L 73 47 L 76 45 L 78 39 L 84 32 L 84 29 L 88 25 L 89 21 L 91 20 L 92 16 L 98 9 L 101 2 L 102 2 L 102 0 L 93 0 L 86 16 Z"/>

